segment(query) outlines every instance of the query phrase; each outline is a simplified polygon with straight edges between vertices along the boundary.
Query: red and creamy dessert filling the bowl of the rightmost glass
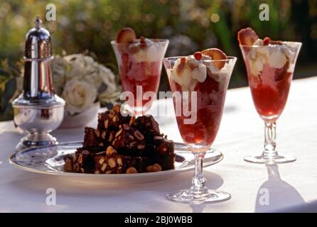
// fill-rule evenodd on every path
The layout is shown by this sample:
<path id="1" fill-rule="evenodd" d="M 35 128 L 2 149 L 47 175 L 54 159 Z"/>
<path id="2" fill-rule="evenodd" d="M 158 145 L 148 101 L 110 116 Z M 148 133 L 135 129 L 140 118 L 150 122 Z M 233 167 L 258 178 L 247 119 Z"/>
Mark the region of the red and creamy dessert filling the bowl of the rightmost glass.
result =
<path id="1" fill-rule="evenodd" d="M 289 96 L 299 44 L 269 38 L 254 40 L 252 45 L 240 45 L 252 99 L 265 121 L 276 121 Z"/>

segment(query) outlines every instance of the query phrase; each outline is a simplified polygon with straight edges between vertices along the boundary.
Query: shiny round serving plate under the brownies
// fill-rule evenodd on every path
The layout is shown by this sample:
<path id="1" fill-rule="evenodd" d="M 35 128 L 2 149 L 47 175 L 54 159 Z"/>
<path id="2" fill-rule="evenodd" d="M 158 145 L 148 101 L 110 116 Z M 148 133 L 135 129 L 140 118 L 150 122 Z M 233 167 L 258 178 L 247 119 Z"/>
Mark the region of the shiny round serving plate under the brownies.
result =
<path id="1" fill-rule="evenodd" d="M 190 153 L 186 145 L 183 143 L 175 143 L 176 162 L 174 170 L 112 175 L 64 172 L 63 165 L 65 162 L 63 159 L 65 155 L 75 153 L 76 148 L 80 147 L 82 147 L 81 142 L 70 142 L 41 148 L 30 148 L 11 155 L 9 162 L 11 165 L 22 170 L 43 175 L 55 175 L 67 181 L 85 184 L 135 184 L 155 182 L 174 177 L 182 172 L 188 172 L 195 167 L 193 154 Z M 220 162 L 222 158 L 222 153 L 210 149 L 205 155 L 204 167 L 215 165 L 217 162 Z"/>

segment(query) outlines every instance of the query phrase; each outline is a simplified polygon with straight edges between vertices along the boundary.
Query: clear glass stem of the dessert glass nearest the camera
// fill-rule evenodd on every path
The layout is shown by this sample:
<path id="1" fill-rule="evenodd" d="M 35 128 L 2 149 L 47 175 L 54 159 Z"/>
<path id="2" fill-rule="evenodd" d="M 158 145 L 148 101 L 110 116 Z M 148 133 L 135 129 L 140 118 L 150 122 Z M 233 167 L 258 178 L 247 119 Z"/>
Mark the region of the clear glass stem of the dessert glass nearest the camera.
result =
<path id="1" fill-rule="evenodd" d="M 191 191 L 193 194 L 205 194 L 208 189 L 205 187 L 206 179 L 203 176 L 203 159 L 205 153 L 194 153 L 195 156 L 195 173 L 192 179 Z"/>

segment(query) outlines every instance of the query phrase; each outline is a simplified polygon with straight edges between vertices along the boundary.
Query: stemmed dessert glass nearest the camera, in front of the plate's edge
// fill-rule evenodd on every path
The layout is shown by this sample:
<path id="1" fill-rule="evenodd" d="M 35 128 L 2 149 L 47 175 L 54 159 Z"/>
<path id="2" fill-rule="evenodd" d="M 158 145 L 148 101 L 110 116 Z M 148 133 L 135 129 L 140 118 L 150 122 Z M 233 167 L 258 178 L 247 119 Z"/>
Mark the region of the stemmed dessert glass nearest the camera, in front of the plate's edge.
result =
<path id="1" fill-rule="evenodd" d="M 230 199 L 230 194 L 217 192 L 205 187 L 203 159 L 215 140 L 222 118 L 225 95 L 236 57 L 226 60 L 210 60 L 203 55 L 195 60 L 188 57 L 168 57 L 163 59 L 168 81 L 173 92 L 174 110 L 178 130 L 183 142 L 195 156 L 195 174 L 190 189 L 168 194 L 173 201 L 197 204 Z M 195 94 L 195 98 L 191 94 Z M 195 102 L 195 105 L 193 105 Z M 182 106 L 182 107 L 181 107 Z M 189 106 L 191 120 L 187 121 Z M 180 109 L 181 108 L 181 109 Z"/>

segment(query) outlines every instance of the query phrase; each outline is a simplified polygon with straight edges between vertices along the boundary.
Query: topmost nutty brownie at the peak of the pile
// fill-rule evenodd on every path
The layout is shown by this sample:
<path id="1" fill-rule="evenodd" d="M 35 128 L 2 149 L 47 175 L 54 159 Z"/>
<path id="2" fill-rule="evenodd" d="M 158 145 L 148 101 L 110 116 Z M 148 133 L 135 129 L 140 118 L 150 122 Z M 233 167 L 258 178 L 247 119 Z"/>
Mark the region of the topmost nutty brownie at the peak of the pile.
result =
<path id="1" fill-rule="evenodd" d="M 122 124 L 131 125 L 134 123 L 134 116 L 122 116 L 120 106 L 115 105 L 114 109 L 98 114 L 98 126 L 100 130 L 117 131 Z"/>

